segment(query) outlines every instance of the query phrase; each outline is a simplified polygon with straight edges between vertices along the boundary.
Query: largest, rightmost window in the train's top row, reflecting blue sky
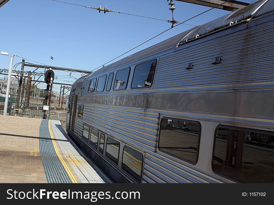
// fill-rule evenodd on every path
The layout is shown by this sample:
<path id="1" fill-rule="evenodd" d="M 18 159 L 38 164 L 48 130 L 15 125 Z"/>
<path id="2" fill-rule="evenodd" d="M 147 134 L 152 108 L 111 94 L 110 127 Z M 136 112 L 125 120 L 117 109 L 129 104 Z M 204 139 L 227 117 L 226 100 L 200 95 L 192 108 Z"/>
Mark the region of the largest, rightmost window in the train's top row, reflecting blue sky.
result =
<path id="1" fill-rule="evenodd" d="M 131 88 L 146 88 L 152 84 L 156 59 L 135 66 Z"/>

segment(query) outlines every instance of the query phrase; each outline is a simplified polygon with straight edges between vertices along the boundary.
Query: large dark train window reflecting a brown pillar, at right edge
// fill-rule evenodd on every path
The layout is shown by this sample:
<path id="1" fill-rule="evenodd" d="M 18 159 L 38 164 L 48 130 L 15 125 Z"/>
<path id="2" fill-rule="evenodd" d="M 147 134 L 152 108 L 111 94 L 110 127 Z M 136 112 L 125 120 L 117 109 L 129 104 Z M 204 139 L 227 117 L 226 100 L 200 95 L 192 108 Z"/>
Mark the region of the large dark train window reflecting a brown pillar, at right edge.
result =
<path id="1" fill-rule="evenodd" d="M 218 127 L 212 168 L 244 183 L 273 183 L 274 133 Z"/>

